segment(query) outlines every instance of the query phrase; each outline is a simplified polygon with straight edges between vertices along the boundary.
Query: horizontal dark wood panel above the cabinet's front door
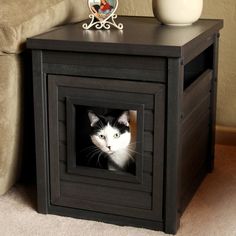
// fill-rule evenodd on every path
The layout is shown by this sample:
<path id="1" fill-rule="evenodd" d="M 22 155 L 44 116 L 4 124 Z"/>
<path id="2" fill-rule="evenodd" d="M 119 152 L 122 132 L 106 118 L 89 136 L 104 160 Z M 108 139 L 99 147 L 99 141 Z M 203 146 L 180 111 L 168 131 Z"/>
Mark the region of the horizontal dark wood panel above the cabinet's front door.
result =
<path id="1" fill-rule="evenodd" d="M 150 82 L 165 82 L 164 58 L 110 55 L 94 53 L 54 52 L 44 53 L 47 73 L 117 78 Z"/>

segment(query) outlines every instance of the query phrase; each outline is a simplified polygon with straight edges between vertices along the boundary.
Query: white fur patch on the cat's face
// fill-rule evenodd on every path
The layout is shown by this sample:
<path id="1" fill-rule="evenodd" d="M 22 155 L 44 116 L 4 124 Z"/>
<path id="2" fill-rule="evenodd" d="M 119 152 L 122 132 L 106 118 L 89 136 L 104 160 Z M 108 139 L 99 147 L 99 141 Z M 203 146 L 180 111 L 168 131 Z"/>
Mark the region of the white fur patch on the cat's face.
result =
<path id="1" fill-rule="evenodd" d="M 96 135 L 92 135 L 91 140 L 103 152 L 112 155 L 129 146 L 131 134 L 128 131 L 120 134 L 117 128 L 108 123 Z"/>

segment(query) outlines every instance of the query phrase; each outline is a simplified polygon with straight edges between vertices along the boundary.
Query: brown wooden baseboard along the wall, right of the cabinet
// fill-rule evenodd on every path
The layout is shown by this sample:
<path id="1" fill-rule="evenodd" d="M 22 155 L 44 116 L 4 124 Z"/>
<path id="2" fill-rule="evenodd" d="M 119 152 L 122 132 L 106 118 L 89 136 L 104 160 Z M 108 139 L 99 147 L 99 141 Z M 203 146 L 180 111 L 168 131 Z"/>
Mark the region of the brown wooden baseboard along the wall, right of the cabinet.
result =
<path id="1" fill-rule="evenodd" d="M 236 127 L 217 125 L 216 144 L 236 146 Z"/>

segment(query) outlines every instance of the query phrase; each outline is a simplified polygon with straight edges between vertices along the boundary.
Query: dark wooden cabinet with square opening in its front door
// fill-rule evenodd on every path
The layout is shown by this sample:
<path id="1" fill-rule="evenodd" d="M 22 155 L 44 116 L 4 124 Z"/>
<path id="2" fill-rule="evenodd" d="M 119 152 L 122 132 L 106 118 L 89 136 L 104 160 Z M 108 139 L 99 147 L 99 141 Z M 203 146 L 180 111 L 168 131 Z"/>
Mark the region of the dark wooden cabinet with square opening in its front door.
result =
<path id="1" fill-rule="evenodd" d="M 38 210 L 175 233 L 213 169 L 223 23 L 120 21 L 123 31 L 75 24 L 27 42 L 33 54 Z M 78 164 L 81 117 L 90 107 L 135 111 L 135 174 Z"/>

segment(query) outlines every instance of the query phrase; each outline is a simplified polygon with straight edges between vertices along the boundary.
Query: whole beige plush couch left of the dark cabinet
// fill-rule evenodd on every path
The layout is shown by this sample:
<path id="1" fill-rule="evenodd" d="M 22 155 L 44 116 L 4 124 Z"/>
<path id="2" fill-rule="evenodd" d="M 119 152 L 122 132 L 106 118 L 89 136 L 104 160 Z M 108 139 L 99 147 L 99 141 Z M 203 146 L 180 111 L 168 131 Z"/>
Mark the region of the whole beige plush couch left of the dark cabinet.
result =
<path id="1" fill-rule="evenodd" d="M 26 39 L 87 16 L 87 0 L 0 0 L 0 194 L 21 169 Z"/>

